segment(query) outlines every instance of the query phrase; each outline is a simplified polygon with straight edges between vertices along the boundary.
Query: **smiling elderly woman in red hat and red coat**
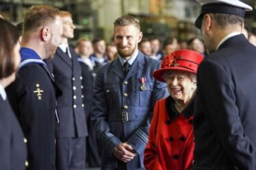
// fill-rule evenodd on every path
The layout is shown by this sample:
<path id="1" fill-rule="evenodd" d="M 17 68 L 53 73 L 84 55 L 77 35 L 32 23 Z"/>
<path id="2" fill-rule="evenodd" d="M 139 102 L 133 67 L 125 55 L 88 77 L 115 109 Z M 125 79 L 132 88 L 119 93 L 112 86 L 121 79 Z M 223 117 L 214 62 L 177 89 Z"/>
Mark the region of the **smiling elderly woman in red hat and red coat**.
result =
<path id="1" fill-rule="evenodd" d="M 193 102 L 196 71 L 203 55 L 180 50 L 164 57 L 162 67 L 153 73 L 167 83 L 170 96 L 158 100 L 144 151 L 147 170 L 186 170 L 193 162 Z"/>

